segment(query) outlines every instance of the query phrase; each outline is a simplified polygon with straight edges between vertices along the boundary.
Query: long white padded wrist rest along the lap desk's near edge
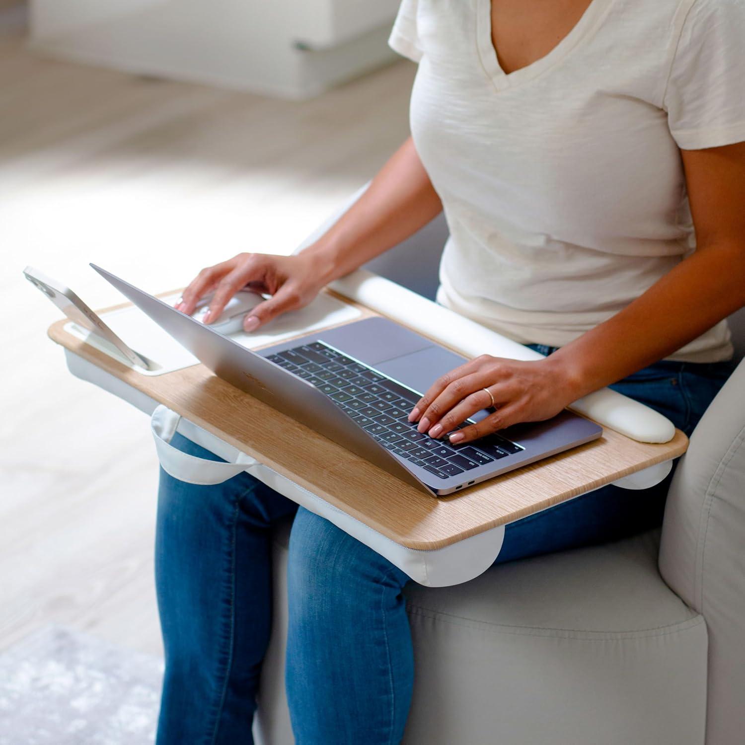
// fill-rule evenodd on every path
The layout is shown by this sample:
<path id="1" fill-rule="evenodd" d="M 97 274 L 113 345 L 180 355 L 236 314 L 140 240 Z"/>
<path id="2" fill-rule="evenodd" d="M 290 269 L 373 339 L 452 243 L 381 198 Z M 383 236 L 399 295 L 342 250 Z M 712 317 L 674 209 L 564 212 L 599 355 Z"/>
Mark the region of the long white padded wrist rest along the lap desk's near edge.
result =
<path id="1" fill-rule="evenodd" d="M 371 272 L 358 269 L 329 286 L 373 311 L 440 341 L 464 357 L 486 354 L 525 361 L 543 358 L 539 352 Z M 569 408 L 641 443 L 667 443 L 675 435 L 670 419 L 609 388 L 590 393 Z"/>

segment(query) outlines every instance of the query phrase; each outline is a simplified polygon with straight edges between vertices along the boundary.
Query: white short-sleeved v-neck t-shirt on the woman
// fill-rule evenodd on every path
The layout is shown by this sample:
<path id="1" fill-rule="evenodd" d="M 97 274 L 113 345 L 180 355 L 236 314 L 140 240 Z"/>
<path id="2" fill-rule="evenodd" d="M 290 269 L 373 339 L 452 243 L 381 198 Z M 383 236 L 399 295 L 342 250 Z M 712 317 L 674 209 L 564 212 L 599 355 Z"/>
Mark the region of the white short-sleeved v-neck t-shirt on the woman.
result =
<path id="1" fill-rule="evenodd" d="M 419 63 L 411 132 L 451 233 L 437 299 L 562 346 L 695 250 L 679 148 L 745 140 L 745 0 L 592 0 L 509 75 L 490 14 L 404 0 L 390 37 Z M 731 355 L 722 322 L 670 359 Z"/>

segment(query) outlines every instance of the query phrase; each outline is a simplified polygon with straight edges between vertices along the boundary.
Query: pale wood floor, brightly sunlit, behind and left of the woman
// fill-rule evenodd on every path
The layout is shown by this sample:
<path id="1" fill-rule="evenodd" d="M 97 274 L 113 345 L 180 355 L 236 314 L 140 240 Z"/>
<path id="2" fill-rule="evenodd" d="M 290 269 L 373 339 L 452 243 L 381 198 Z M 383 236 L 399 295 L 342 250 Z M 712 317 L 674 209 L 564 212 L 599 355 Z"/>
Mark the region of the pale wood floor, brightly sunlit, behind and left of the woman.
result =
<path id="1" fill-rule="evenodd" d="M 32 264 L 89 305 L 288 253 L 408 135 L 413 66 L 304 103 L 44 60 L 0 39 L 0 648 L 60 623 L 159 653 L 144 415 L 66 372 Z"/>

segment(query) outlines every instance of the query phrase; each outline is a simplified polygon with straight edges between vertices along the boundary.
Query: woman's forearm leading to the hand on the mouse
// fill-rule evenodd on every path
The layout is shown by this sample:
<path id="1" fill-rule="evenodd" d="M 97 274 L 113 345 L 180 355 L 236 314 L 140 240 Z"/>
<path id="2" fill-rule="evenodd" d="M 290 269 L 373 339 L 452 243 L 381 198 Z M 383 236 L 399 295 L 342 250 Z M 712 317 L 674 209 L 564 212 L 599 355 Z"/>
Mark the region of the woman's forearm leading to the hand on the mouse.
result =
<path id="1" fill-rule="evenodd" d="M 364 194 L 303 253 L 317 259 L 324 281 L 331 282 L 404 241 L 442 209 L 409 138 Z"/>

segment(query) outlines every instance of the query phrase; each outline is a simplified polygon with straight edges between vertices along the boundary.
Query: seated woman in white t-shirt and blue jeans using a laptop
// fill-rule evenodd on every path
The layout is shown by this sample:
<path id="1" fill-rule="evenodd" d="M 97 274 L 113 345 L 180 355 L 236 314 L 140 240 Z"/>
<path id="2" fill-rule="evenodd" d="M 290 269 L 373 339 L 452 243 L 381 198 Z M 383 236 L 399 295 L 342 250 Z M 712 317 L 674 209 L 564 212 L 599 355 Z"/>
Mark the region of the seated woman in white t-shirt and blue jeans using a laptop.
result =
<path id="1" fill-rule="evenodd" d="M 253 331 L 444 209 L 439 302 L 546 356 L 452 371 L 412 410 L 419 431 L 448 437 L 491 395 L 495 413 L 450 435 L 472 440 L 611 385 L 690 433 L 731 370 L 723 319 L 745 304 L 743 38 L 741 0 L 405 0 L 390 44 L 419 63 L 412 138 L 308 250 L 209 267 L 178 307 L 214 291 L 215 319 L 250 285 L 272 295 Z M 608 486 L 512 524 L 498 562 L 659 524 L 667 486 Z M 250 742 L 269 533 L 296 510 L 249 475 L 162 474 L 161 745 Z M 297 742 L 400 741 L 408 577 L 302 509 L 289 562 Z"/>

